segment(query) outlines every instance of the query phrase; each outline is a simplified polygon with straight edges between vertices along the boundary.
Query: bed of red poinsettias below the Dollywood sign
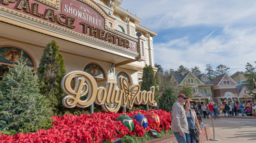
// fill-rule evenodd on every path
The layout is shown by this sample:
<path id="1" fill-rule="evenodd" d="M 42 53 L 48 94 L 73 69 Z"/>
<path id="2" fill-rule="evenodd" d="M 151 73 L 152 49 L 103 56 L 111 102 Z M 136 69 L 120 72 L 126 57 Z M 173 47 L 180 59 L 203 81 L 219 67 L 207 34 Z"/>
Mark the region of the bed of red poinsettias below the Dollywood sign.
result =
<path id="1" fill-rule="evenodd" d="M 146 130 L 153 129 L 161 132 L 161 129 L 165 129 L 167 131 L 171 125 L 171 113 L 165 110 L 152 109 L 150 111 L 154 111 L 159 116 L 161 125 L 158 128 L 149 125 Z M 145 116 L 150 111 L 136 110 L 135 112 L 127 113 L 127 115 L 132 117 L 137 112 L 141 112 Z M 55 120 L 52 123 L 53 128 L 49 130 L 40 129 L 36 133 L 21 133 L 16 135 L 7 135 L 0 132 L 0 143 L 91 143 L 101 142 L 103 140 L 113 141 L 126 134 L 138 135 L 139 137 L 145 134 L 143 127 L 134 119 L 134 130 L 133 132 L 129 132 L 127 127 L 120 121 L 115 120 L 120 115 L 122 114 L 99 112 L 92 115 L 53 116 L 52 118 Z"/>

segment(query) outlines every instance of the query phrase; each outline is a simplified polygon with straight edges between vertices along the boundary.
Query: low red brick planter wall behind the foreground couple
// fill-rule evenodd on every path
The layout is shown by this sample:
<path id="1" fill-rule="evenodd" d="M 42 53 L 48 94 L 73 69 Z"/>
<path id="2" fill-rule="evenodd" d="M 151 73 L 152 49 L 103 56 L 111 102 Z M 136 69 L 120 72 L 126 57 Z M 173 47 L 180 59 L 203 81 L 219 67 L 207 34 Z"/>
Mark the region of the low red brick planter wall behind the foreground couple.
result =
<path id="1" fill-rule="evenodd" d="M 203 143 L 210 139 L 211 134 L 210 134 L 209 126 L 201 127 L 201 132 L 202 134 L 200 135 L 200 140 L 201 140 L 200 143 Z M 153 139 L 145 143 L 178 143 L 178 142 L 174 135 L 169 135 L 162 138 Z"/>

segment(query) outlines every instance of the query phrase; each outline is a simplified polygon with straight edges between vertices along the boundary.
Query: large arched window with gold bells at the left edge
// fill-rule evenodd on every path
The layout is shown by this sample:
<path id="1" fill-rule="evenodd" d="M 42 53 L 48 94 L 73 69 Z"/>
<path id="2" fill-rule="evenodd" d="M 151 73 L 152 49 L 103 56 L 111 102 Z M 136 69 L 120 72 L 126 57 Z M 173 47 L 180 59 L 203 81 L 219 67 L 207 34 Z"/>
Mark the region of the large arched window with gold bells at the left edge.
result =
<path id="1" fill-rule="evenodd" d="M 22 52 L 23 51 L 23 52 Z M 22 57 L 27 60 L 27 66 L 36 69 L 39 61 L 34 52 L 27 46 L 13 41 L 3 41 L 0 43 L 0 64 L 17 64 L 16 60 Z"/>

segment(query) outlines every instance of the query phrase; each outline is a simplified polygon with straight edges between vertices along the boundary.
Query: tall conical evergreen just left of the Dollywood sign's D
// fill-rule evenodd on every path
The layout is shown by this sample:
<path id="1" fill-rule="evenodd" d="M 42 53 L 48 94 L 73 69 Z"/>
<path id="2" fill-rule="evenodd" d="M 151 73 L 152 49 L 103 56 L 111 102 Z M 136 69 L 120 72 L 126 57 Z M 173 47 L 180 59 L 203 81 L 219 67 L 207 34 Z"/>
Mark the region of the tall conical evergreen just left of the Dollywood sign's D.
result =
<path id="1" fill-rule="evenodd" d="M 64 59 L 59 52 L 59 46 L 52 40 L 46 45 L 43 56 L 37 68 L 37 75 L 40 80 L 40 93 L 44 94 L 50 101 L 55 114 L 59 114 L 64 107 L 62 105 L 63 93 L 60 82 L 65 75 Z"/>

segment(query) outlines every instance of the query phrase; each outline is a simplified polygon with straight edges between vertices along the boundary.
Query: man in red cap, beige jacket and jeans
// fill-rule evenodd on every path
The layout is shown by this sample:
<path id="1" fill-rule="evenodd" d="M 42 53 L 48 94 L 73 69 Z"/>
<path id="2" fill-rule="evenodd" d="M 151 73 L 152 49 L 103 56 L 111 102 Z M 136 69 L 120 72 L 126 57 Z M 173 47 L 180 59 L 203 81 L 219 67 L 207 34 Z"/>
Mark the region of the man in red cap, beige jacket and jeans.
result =
<path id="1" fill-rule="evenodd" d="M 186 143 L 186 134 L 188 132 L 188 123 L 186 118 L 186 112 L 183 107 L 186 97 L 184 94 L 178 95 L 178 100 L 172 105 L 172 123 L 171 131 L 174 133 L 178 143 Z"/>

